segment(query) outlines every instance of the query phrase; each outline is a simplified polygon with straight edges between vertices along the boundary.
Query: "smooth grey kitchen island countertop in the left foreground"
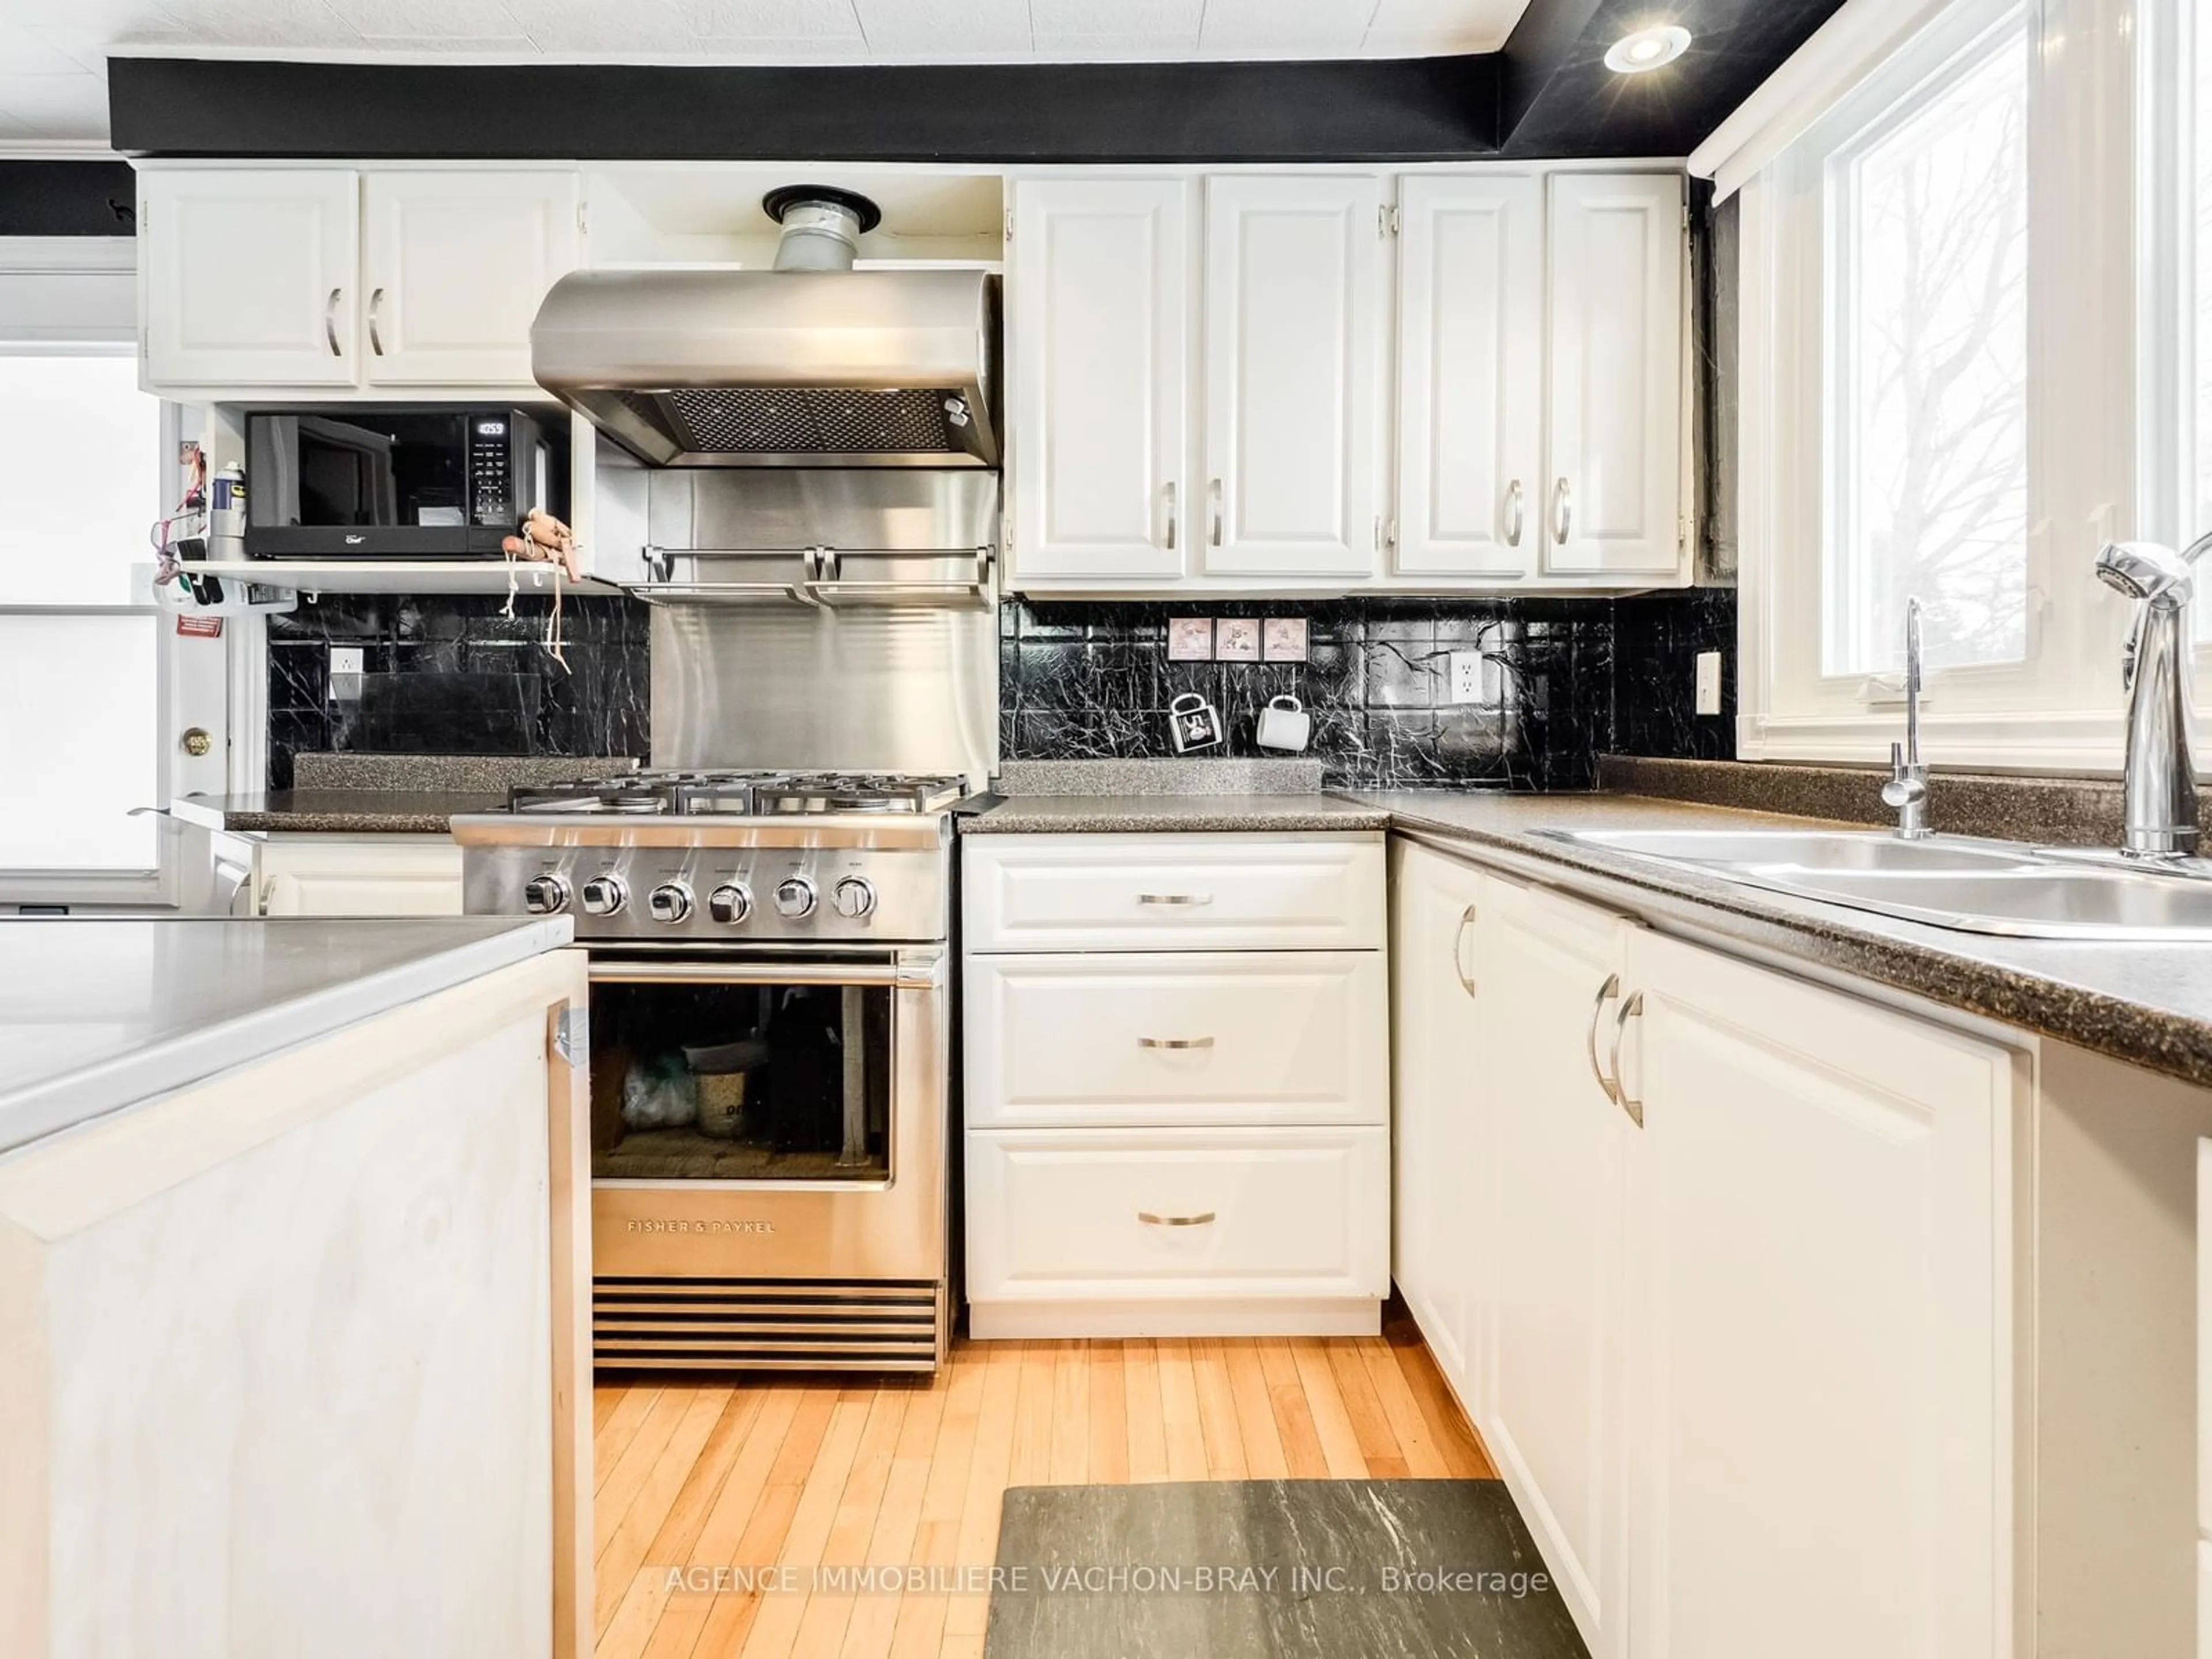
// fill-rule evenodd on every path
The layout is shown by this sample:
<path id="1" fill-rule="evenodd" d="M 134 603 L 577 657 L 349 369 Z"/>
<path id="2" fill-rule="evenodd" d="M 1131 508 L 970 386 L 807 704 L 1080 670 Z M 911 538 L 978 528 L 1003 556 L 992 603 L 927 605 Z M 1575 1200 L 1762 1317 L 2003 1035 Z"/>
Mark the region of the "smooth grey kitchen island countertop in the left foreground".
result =
<path id="1" fill-rule="evenodd" d="M 571 933 L 566 916 L 0 920 L 0 1155 Z"/>

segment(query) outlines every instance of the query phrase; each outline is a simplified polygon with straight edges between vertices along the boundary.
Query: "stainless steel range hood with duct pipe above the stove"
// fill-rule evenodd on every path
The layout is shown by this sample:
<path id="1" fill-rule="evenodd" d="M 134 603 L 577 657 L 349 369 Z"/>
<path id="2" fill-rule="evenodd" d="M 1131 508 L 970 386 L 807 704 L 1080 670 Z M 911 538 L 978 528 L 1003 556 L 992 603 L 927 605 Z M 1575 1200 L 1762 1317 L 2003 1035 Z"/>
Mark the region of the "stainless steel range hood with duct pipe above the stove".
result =
<path id="1" fill-rule="evenodd" d="M 653 467 L 998 467 L 998 279 L 849 270 L 874 204 L 774 190 L 776 270 L 580 270 L 538 385 Z"/>

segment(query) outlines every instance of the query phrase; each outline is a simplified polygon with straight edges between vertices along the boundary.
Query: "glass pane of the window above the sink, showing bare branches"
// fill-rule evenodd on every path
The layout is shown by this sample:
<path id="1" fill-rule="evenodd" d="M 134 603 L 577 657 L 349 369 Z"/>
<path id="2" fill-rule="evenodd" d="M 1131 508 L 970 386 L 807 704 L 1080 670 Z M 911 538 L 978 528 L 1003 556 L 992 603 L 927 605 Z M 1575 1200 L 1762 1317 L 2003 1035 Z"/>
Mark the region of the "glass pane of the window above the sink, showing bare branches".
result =
<path id="1" fill-rule="evenodd" d="M 2028 655 L 2028 60 L 2017 29 L 1827 164 L 1827 675 Z"/>

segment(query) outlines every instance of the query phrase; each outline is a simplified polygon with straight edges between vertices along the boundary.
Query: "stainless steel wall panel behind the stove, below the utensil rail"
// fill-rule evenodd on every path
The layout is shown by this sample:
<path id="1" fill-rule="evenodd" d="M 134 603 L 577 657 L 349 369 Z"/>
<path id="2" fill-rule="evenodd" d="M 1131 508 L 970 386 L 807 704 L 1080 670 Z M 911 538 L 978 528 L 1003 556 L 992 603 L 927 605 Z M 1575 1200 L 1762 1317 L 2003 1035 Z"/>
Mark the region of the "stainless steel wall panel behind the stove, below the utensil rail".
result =
<path id="1" fill-rule="evenodd" d="M 998 768 L 998 613 L 655 606 L 653 765 Z"/>

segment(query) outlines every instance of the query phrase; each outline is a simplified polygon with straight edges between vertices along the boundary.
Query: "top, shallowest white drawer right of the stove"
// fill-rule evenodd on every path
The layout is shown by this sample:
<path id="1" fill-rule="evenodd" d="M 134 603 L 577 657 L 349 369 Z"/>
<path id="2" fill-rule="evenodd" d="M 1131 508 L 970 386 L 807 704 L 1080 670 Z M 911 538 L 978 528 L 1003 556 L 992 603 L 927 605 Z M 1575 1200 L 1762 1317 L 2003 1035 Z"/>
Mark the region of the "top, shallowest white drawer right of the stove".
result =
<path id="1" fill-rule="evenodd" d="M 971 951 L 1383 945 L 1383 838 L 978 836 Z"/>

